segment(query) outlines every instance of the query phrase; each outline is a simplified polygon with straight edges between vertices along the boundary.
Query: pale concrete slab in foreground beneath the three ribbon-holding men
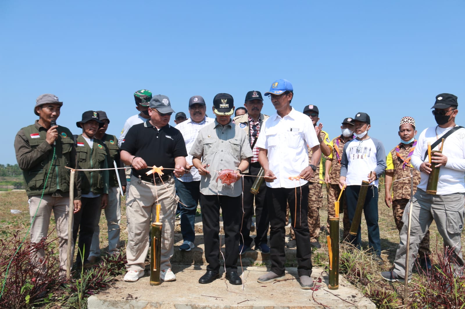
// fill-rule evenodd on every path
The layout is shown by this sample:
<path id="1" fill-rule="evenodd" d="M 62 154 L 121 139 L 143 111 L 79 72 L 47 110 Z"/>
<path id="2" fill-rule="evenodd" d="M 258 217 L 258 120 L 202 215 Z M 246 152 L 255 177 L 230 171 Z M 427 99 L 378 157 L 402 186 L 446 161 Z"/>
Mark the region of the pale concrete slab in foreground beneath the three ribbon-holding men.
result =
<path id="1" fill-rule="evenodd" d="M 301 290 L 297 277 L 297 268 L 287 268 L 286 279 L 276 283 L 258 283 L 257 278 L 266 273 L 266 267 L 244 267 L 239 275 L 243 285 L 232 285 L 222 277 L 209 284 L 199 284 L 205 273 L 205 266 L 173 265 L 177 280 L 163 282 L 159 286 L 150 286 L 149 274 L 134 283 L 118 282 L 109 290 L 90 296 L 89 309 L 300 309 L 300 308 L 376 308 L 359 290 L 339 278 L 339 290 L 328 290 L 327 273 L 314 268 L 312 277 L 316 289 Z M 324 305 L 324 306 L 323 306 Z"/>

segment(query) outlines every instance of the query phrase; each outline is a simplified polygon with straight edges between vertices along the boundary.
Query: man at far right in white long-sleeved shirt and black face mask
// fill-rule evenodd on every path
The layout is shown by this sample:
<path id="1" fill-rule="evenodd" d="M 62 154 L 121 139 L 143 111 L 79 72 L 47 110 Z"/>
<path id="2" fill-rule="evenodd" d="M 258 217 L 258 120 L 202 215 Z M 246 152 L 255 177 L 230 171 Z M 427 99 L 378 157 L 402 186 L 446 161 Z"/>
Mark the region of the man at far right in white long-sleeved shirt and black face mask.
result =
<path id="1" fill-rule="evenodd" d="M 405 207 L 404 226 L 400 231 L 400 243 L 392 271 L 383 271 L 381 277 L 387 281 L 405 281 L 405 255 L 407 248 L 408 213 L 412 209 L 410 227 L 410 259 L 408 281 L 412 277 L 412 267 L 417 256 L 419 243 L 428 231 L 432 220 L 436 222 L 438 232 L 444 239 L 445 256 L 451 258 L 456 276 L 463 274 L 464 259 L 460 235 L 465 217 L 465 129 L 457 127 L 455 117 L 458 114 L 457 97 L 449 93 L 436 96 L 433 105 L 435 127 L 425 129 L 419 135 L 417 146 L 413 151 L 412 165 L 421 173 L 420 184 L 413 196 L 413 201 Z M 449 136 L 446 136 L 450 134 Z M 441 145 L 442 139 L 444 145 Z M 438 141 L 438 142 L 437 142 Z M 439 167 L 436 194 L 428 193 L 427 184 L 432 172 L 427 149 L 431 143 L 431 163 Z M 442 148 L 442 153 L 436 151 Z"/>

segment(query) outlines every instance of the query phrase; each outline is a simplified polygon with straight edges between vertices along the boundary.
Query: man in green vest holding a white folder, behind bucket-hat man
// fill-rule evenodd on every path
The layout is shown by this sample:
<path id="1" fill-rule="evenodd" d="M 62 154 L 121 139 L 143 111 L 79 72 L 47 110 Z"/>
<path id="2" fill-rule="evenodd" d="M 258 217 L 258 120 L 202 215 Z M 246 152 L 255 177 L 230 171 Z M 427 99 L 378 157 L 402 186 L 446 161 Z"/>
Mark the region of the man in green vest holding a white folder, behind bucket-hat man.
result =
<path id="1" fill-rule="evenodd" d="M 100 121 L 103 122 L 103 126 L 95 134 L 95 138 L 103 141 L 110 156 L 108 161 L 108 167 L 122 167 L 120 164 L 120 148 L 118 147 L 118 140 L 115 135 L 106 134 L 110 119 L 106 116 L 106 112 L 103 110 L 97 110 L 99 113 Z M 114 165 L 116 164 L 116 166 Z M 105 218 L 106 225 L 108 227 L 108 254 L 115 254 L 118 251 L 118 245 L 120 243 L 120 221 L 121 221 L 121 195 L 126 192 L 126 174 L 124 169 L 118 169 L 118 175 L 116 171 L 109 170 L 109 181 L 110 187 L 108 189 L 108 205 L 105 207 Z M 118 177 L 119 176 L 119 177 Z M 119 179 L 119 180 L 118 180 Z M 120 189 L 123 190 L 121 192 Z M 92 245 L 90 246 L 89 262 L 95 263 L 100 257 L 100 214 L 98 220 L 95 220 Z"/>

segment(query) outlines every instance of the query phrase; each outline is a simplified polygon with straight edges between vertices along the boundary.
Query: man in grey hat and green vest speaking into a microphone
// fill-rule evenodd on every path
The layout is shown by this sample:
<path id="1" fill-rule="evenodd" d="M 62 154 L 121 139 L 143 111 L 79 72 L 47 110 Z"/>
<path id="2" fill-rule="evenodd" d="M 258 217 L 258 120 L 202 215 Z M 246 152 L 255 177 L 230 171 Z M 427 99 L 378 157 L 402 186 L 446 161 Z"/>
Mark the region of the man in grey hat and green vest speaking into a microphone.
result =
<path id="1" fill-rule="evenodd" d="M 48 235 L 50 215 L 55 216 L 59 240 L 60 276 L 66 276 L 68 248 L 68 209 L 70 169 L 76 167 L 73 134 L 68 128 L 56 125 L 63 102 L 53 94 L 43 94 L 36 100 L 34 124 L 20 129 L 14 139 L 16 160 L 23 171 L 31 216 L 31 243 L 39 243 Z M 53 125 L 52 125 L 53 123 Z M 74 213 L 81 207 L 80 179 L 76 173 Z M 42 196 L 43 194 L 43 196 Z M 31 257 L 40 274 L 46 270 L 45 251 L 38 250 Z"/>

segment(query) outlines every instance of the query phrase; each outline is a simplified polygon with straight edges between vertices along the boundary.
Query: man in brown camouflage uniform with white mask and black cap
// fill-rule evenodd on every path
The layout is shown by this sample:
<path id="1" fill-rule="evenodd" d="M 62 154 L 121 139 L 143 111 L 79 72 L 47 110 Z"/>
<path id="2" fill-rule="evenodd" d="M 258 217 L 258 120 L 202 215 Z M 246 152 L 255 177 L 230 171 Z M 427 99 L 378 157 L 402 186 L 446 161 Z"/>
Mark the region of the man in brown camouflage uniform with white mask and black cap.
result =
<path id="1" fill-rule="evenodd" d="M 339 188 L 339 173 L 341 171 L 341 154 L 344 150 L 344 145 L 353 139 L 353 119 L 345 118 L 342 121 L 341 135 L 335 137 L 331 141 L 332 152 L 326 157 L 325 162 L 325 182 L 327 186 L 327 198 L 328 198 L 328 221 L 326 229 L 329 232 L 329 217 L 335 217 L 336 212 L 334 210 L 334 202 L 338 200 L 341 189 Z M 340 199 L 340 209 L 344 209 L 344 217 L 342 219 L 344 225 L 343 238 L 345 239 L 349 235 L 350 224 L 349 215 L 347 214 L 347 205 L 345 204 L 344 193 Z"/>

